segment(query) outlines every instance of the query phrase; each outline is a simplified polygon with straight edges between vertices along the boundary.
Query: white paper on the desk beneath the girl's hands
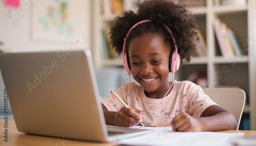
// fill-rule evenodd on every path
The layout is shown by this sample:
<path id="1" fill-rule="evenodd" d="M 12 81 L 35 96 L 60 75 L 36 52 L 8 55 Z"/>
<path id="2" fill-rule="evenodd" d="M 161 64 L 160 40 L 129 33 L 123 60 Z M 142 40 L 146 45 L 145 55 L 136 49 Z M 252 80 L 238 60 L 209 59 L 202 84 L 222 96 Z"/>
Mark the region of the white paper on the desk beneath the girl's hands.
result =
<path id="1" fill-rule="evenodd" d="M 133 126 L 140 128 L 141 126 Z M 172 127 L 146 127 L 154 129 L 152 133 L 120 140 L 117 143 L 127 145 L 225 145 L 231 146 L 231 138 L 239 138 L 244 133 L 218 132 L 175 132 Z"/>

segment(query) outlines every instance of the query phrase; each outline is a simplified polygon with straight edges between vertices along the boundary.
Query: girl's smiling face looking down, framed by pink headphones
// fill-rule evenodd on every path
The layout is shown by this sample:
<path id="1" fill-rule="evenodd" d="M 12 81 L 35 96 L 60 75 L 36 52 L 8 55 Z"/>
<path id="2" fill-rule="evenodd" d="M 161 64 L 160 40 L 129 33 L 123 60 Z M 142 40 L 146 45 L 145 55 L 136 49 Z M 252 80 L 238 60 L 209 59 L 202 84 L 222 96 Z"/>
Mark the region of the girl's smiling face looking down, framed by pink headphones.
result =
<path id="1" fill-rule="evenodd" d="M 132 38 L 129 44 L 131 72 L 134 79 L 148 92 L 162 95 L 170 87 L 170 45 L 158 34 L 144 34 Z M 159 96 L 163 98 L 163 96 Z"/>

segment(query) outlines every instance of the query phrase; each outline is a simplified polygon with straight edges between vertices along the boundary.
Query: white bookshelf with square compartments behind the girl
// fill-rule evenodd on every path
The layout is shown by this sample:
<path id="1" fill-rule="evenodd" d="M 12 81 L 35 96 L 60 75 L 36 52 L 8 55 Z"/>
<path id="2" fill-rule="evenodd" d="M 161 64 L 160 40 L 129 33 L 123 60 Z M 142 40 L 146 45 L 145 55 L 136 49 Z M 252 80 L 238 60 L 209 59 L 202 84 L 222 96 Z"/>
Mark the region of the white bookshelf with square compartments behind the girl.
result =
<path id="1" fill-rule="evenodd" d="M 122 66 L 121 58 L 104 59 L 102 36 L 104 27 L 111 27 L 117 14 L 104 14 L 102 1 L 93 1 L 93 59 L 95 67 Z M 123 9 L 131 9 L 123 1 Z M 136 1 L 136 0 L 134 0 Z M 183 3 L 178 1 L 178 3 Z M 135 10 L 136 8 L 132 8 Z M 191 59 L 176 72 L 176 80 L 186 80 L 200 70 L 207 79 L 207 87 L 240 87 L 246 93 L 244 113 L 249 114 L 250 130 L 256 130 L 256 1 L 247 0 L 246 5 L 222 5 L 220 0 L 198 1 L 198 5 L 188 7 L 196 14 L 197 24 L 206 42 L 207 55 Z M 245 51 L 241 56 L 223 57 L 214 29 L 215 19 L 220 19 L 234 31 Z M 232 104 L 232 102 L 230 102 Z"/>

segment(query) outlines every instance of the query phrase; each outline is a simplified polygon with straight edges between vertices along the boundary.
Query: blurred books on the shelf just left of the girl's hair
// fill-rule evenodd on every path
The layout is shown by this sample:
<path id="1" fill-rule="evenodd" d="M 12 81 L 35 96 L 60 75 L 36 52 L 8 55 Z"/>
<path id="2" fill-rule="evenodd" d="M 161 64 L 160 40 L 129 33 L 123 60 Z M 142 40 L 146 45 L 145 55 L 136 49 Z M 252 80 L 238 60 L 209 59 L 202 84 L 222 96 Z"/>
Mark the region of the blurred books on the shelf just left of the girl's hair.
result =
<path id="1" fill-rule="evenodd" d="M 103 40 L 103 57 L 104 59 L 117 58 L 118 53 L 115 51 L 115 48 L 111 45 L 110 41 L 110 28 L 105 28 L 102 30 L 102 40 Z"/>

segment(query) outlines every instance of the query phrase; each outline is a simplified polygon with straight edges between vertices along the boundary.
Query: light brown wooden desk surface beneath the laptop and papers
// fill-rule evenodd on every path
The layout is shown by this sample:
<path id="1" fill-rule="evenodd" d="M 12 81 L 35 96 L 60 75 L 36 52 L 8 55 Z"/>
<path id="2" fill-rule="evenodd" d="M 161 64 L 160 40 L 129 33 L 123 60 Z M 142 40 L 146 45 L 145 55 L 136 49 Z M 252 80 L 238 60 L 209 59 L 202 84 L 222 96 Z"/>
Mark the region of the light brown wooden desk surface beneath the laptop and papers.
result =
<path id="1" fill-rule="evenodd" d="M 47 137 L 47 136 L 37 136 L 25 134 L 17 131 L 14 120 L 8 120 L 8 142 L 4 141 L 4 128 L 5 121 L 0 120 L 0 145 L 118 145 L 116 143 L 97 143 L 97 142 L 88 142 L 88 141 L 79 141 L 71 139 L 61 139 L 56 137 Z M 247 135 L 256 135 L 256 131 L 245 131 L 245 130 L 227 130 L 220 131 L 226 133 L 245 133 Z"/>

